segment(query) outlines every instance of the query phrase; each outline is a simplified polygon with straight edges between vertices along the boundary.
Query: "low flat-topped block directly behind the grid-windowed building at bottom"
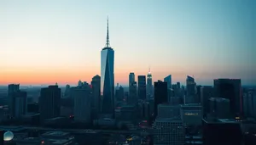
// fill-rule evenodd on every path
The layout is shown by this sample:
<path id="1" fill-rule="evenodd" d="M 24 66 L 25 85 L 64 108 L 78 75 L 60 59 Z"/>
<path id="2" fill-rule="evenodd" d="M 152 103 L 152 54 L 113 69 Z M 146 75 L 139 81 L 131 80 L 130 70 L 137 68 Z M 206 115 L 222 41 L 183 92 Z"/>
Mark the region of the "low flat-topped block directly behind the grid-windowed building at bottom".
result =
<path id="1" fill-rule="evenodd" d="M 181 118 L 180 105 L 159 104 L 158 118 Z"/>

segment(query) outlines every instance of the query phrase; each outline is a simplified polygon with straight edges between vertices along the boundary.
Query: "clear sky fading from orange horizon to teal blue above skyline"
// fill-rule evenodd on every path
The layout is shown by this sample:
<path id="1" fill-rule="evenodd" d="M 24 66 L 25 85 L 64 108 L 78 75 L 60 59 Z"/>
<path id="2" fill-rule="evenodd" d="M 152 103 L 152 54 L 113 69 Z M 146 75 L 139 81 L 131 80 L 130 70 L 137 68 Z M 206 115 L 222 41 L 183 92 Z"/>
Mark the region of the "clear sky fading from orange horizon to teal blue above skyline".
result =
<path id="1" fill-rule="evenodd" d="M 256 84 L 251 0 L 0 0 L 0 84 L 76 84 L 100 75 L 109 17 L 115 83 L 130 72 Z"/>

